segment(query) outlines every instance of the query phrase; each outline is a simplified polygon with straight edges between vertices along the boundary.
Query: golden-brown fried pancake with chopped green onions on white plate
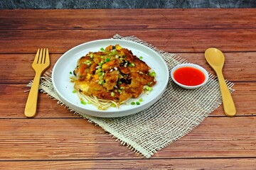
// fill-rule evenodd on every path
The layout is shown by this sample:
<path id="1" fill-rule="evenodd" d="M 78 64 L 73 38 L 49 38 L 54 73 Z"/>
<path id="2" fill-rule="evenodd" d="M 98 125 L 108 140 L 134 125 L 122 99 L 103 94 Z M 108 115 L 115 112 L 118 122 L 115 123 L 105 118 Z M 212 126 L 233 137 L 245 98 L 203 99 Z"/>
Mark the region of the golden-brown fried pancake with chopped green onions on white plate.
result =
<path id="1" fill-rule="evenodd" d="M 132 51 L 110 45 L 78 60 L 74 87 L 85 95 L 122 103 L 128 98 L 137 98 L 144 86 L 156 84 L 150 69 Z"/>

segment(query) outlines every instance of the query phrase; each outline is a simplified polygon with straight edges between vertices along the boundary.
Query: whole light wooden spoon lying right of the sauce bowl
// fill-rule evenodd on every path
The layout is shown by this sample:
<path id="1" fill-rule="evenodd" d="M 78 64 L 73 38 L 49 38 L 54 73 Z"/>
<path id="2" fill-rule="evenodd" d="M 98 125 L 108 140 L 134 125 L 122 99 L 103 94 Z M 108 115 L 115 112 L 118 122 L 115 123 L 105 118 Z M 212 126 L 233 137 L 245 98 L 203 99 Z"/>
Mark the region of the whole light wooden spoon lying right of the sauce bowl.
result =
<path id="1" fill-rule="evenodd" d="M 228 86 L 225 83 L 225 79 L 223 77 L 223 72 L 222 72 L 224 61 L 225 61 L 223 52 L 221 52 L 217 48 L 211 47 L 206 50 L 205 57 L 208 64 L 210 64 L 210 67 L 212 67 L 215 73 L 217 74 L 218 81 L 220 84 L 220 93 L 223 98 L 223 107 L 224 107 L 225 115 L 234 116 L 236 113 L 235 104 L 228 90 Z"/>

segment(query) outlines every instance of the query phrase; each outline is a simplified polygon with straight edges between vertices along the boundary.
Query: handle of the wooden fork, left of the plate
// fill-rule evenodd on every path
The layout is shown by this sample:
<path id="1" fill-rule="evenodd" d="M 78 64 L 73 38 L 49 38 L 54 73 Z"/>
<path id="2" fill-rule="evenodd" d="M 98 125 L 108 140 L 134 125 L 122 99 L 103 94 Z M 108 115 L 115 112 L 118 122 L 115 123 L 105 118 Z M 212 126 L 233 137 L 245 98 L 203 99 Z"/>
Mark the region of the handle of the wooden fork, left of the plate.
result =
<path id="1" fill-rule="evenodd" d="M 26 107 L 25 107 L 25 111 L 24 111 L 24 114 L 28 118 L 33 118 L 36 115 L 40 77 L 41 77 L 41 74 L 36 73 L 36 75 L 33 79 L 33 84 L 31 86 L 31 90 L 28 94 L 28 100 L 26 102 Z"/>

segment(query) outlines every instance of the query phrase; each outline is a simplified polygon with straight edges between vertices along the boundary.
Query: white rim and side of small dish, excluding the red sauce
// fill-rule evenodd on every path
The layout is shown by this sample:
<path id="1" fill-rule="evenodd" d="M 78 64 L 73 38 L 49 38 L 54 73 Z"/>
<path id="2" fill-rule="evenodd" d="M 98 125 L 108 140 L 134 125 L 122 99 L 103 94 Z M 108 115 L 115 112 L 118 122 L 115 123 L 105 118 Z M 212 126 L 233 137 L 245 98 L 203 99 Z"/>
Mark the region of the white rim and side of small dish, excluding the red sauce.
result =
<path id="1" fill-rule="evenodd" d="M 189 85 L 185 85 L 185 84 L 181 84 L 179 83 L 178 81 L 176 81 L 176 79 L 174 79 L 174 72 L 176 72 L 177 69 L 180 69 L 182 67 L 192 67 L 194 69 L 198 69 L 200 70 L 203 75 L 205 76 L 205 79 L 204 81 L 201 83 L 201 84 L 198 84 L 196 86 L 189 86 Z M 191 64 L 191 63 L 186 63 L 186 64 L 178 64 L 176 65 L 176 67 L 174 67 L 173 69 L 171 69 L 171 79 L 173 79 L 173 81 L 178 84 L 178 86 L 181 86 L 183 87 L 184 89 L 196 89 L 198 87 L 201 87 L 203 85 L 205 85 L 209 79 L 209 74 L 208 72 L 206 71 L 206 69 L 204 69 L 203 67 L 197 65 L 197 64 Z"/>

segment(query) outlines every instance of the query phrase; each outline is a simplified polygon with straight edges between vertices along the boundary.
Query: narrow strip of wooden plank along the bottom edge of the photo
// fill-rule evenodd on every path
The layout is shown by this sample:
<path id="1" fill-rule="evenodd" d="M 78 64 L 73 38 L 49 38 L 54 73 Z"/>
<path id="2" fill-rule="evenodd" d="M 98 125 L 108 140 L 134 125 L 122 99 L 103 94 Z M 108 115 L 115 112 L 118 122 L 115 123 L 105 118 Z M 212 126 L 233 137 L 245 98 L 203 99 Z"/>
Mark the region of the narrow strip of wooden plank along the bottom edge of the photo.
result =
<path id="1" fill-rule="evenodd" d="M 12 167 L 10 168 L 10 164 Z M 35 166 L 36 165 L 36 166 Z M 135 160 L 73 160 L 73 161 L 12 161 L 0 162 L 5 170 L 10 169 L 251 169 L 256 166 L 255 159 L 135 159 Z"/>

